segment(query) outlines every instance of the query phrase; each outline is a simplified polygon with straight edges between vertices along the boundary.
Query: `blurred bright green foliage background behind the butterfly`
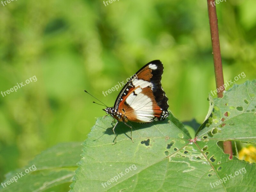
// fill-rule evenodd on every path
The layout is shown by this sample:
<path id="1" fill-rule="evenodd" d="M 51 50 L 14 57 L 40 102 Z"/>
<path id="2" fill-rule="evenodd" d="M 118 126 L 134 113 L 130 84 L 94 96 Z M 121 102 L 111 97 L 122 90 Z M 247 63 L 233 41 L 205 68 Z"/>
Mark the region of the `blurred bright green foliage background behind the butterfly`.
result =
<path id="1" fill-rule="evenodd" d="M 256 1 L 217 5 L 224 79 L 256 74 Z M 42 150 L 84 141 L 106 115 L 84 89 L 104 96 L 151 60 L 164 64 L 162 84 L 180 121 L 202 123 L 215 90 L 206 0 L 11 1 L 0 4 L 0 182 Z M 228 87 L 230 88 L 230 87 Z M 216 97 L 216 95 L 215 95 Z"/>

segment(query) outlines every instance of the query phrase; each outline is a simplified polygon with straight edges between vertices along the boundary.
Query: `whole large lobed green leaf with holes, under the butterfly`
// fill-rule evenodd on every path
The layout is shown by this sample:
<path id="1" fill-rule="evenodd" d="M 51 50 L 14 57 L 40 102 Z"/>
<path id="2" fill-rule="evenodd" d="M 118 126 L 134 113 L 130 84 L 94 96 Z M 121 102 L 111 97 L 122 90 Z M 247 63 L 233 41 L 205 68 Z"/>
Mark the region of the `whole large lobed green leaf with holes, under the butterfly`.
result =
<path id="1" fill-rule="evenodd" d="M 229 160 L 217 145 L 226 139 L 255 141 L 255 94 L 253 81 L 235 85 L 222 99 L 215 99 L 213 114 L 210 108 L 193 140 L 184 125 L 170 114 L 162 122 L 131 123 L 134 143 L 129 138 L 130 128 L 119 123 L 115 129 L 117 143 L 112 145 L 112 118 L 98 118 L 83 144 L 83 158 L 70 191 L 255 191 L 256 165 L 236 157 Z M 224 117 L 224 122 L 220 121 L 229 106 L 244 110 L 235 109 Z M 209 124 L 211 118 L 219 122 Z M 223 123 L 226 125 L 221 128 Z M 225 130 L 232 126 L 237 127 Z"/>

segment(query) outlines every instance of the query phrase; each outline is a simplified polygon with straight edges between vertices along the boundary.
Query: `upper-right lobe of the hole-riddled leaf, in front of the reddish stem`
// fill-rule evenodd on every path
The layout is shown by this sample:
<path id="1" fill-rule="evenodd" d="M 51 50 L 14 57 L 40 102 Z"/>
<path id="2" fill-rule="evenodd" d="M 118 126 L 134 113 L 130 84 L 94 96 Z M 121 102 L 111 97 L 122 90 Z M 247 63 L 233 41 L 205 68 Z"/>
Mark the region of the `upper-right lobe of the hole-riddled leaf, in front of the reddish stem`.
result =
<path id="1" fill-rule="evenodd" d="M 214 109 L 197 138 L 256 142 L 256 80 L 246 81 L 214 99 Z M 225 113 L 227 116 L 225 116 Z"/>

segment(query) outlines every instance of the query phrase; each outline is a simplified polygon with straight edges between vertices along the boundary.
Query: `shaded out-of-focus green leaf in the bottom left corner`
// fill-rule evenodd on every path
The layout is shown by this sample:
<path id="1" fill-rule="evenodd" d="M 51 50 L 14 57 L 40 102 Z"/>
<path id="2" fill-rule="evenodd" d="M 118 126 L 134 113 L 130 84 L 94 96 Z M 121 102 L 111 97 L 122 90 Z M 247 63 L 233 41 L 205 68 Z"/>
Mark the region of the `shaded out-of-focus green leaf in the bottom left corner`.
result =
<path id="1" fill-rule="evenodd" d="M 0 186 L 0 191 L 40 192 L 71 182 L 77 168 L 76 164 L 81 159 L 81 149 L 81 143 L 63 143 L 47 149 L 36 156 L 28 166 L 8 173 L 3 183 L 10 181 L 15 176 L 18 178 L 17 175 L 20 178 L 17 182 L 14 181 L 9 185 L 6 183 L 4 188 Z M 26 170 L 29 172 L 25 173 Z M 21 175 L 23 176 L 21 177 Z"/>

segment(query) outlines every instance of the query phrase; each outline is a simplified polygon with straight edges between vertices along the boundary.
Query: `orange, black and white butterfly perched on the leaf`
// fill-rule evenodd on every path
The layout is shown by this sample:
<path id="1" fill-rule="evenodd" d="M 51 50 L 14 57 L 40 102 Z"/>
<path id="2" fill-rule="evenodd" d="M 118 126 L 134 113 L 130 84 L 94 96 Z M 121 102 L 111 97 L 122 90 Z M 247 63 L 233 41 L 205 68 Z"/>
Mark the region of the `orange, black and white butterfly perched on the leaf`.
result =
<path id="1" fill-rule="evenodd" d="M 114 107 L 103 109 L 117 120 L 113 127 L 113 144 L 116 143 L 115 128 L 119 121 L 131 128 L 132 140 L 132 126 L 127 124 L 128 121 L 150 123 L 162 121 L 169 116 L 168 98 L 161 84 L 163 72 L 164 66 L 160 60 L 149 62 L 124 85 Z"/>

